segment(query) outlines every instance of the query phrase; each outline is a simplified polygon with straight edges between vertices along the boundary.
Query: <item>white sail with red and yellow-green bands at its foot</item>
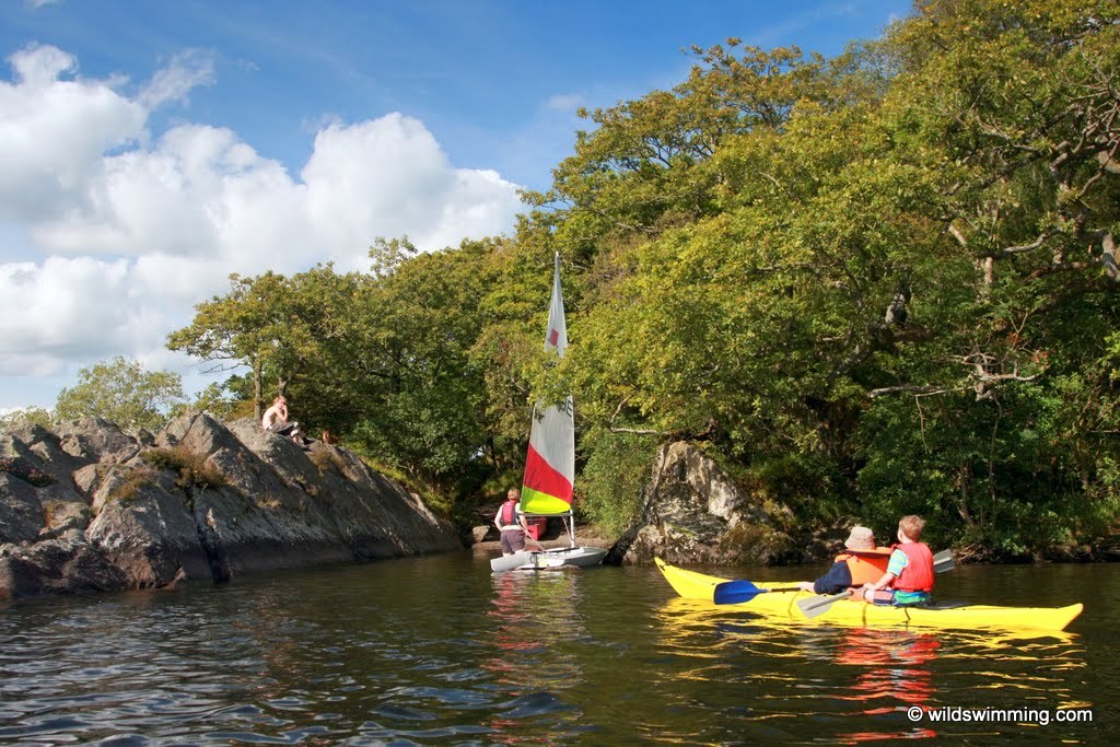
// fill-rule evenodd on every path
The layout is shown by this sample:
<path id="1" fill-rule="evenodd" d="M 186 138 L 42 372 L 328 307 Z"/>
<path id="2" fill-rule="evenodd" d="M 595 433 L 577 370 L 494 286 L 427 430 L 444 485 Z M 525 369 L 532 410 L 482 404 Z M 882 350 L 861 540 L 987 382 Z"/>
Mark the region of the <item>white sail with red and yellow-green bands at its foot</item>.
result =
<path id="1" fill-rule="evenodd" d="M 563 357 L 568 327 L 560 290 L 560 255 L 552 274 L 552 305 L 544 352 Z M 554 515 L 571 511 L 571 488 L 576 478 L 576 410 L 571 395 L 549 407 L 538 403 L 529 435 L 529 456 L 521 488 L 521 510 L 526 514 Z"/>

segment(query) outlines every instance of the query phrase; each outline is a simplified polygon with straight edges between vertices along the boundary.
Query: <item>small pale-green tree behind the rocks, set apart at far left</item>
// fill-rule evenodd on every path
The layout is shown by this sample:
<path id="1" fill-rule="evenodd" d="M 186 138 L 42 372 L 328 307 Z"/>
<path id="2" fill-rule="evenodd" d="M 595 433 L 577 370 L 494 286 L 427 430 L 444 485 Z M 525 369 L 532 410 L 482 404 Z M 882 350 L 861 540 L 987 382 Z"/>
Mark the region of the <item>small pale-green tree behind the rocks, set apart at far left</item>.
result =
<path id="1" fill-rule="evenodd" d="M 158 430 L 183 403 L 183 381 L 169 371 L 144 371 L 137 361 L 116 356 L 78 371 L 78 383 L 64 389 L 55 417 L 102 418 L 120 428 Z"/>

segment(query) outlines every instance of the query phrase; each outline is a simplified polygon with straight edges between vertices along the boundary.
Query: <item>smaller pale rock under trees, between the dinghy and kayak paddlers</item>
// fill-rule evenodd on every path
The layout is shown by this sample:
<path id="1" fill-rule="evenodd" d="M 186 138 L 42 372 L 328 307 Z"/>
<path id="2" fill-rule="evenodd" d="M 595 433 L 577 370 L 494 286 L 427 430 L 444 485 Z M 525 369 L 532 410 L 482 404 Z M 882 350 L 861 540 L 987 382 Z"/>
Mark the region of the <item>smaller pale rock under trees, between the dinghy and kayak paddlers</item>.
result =
<path id="1" fill-rule="evenodd" d="M 787 533 L 793 515 L 736 486 L 691 443 L 668 443 L 657 454 L 641 517 L 605 562 L 773 564 L 801 560 Z"/>

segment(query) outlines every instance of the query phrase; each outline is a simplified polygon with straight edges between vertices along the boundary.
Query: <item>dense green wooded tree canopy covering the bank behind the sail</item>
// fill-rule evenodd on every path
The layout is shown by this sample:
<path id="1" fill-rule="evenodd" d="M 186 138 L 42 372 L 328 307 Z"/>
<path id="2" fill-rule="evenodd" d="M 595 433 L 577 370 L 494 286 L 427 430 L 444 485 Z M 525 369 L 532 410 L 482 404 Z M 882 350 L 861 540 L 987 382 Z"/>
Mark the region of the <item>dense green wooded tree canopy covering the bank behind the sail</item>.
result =
<path id="1" fill-rule="evenodd" d="M 804 524 L 1112 547 L 1118 35 L 1113 1 L 923 0 L 832 59 L 693 48 L 680 84 L 584 112 L 513 236 L 234 277 L 170 345 L 451 502 L 515 482 L 531 403 L 571 391 L 580 505 L 616 529 L 687 438 Z"/>

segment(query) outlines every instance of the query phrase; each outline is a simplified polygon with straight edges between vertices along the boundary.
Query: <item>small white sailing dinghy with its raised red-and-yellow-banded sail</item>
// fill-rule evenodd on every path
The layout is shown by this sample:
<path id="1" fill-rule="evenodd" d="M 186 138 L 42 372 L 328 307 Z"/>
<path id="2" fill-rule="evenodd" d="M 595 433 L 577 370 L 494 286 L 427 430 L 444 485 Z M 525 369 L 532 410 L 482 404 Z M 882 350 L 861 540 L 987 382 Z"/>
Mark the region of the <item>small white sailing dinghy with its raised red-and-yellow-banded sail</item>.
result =
<path id="1" fill-rule="evenodd" d="M 563 293 L 560 290 L 560 254 L 552 272 L 552 304 L 549 306 L 549 328 L 544 352 L 563 357 L 568 348 L 568 326 L 563 316 Z M 491 570 L 542 570 L 562 566 L 587 568 L 598 566 L 607 551 L 576 544 L 576 517 L 571 508 L 572 483 L 576 478 L 576 410 L 569 394 L 563 401 L 533 408 L 533 424 L 529 435 L 529 456 L 521 487 L 521 511 L 525 516 L 559 516 L 568 533 L 569 547 L 523 551 L 495 558 Z"/>

